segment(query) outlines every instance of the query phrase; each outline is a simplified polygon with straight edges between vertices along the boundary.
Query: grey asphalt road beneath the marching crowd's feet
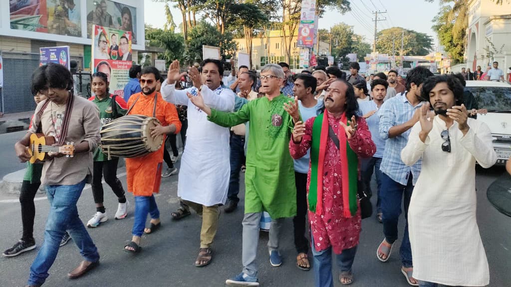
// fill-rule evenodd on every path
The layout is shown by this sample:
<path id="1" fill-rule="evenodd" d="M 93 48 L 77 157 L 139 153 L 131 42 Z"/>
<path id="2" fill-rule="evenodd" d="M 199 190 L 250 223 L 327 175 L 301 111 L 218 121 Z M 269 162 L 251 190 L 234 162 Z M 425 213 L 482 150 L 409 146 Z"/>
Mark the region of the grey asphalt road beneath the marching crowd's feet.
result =
<path id="1" fill-rule="evenodd" d="M 2 137 L 0 142 L 4 142 L 1 139 Z M 3 158 L 6 152 L 10 150 L 0 150 Z M 511 272 L 509 272 L 511 270 L 511 218 L 499 213 L 487 201 L 486 189 L 503 172 L 502 168 L 478 169 L 476 178 L 477 219 L 490 265 L 490 286 L 498 287 L 511 285 L 509 283 L 511 282 Z M 123 175 L 120 179 L 125 184 L 124 169 L 120 169 L 119 174 Z M 55 264 L 50 270 L 50 277 L 44 286 L 224 286 L 225 279 L 241 271 L 243 200 L 235 212 L 221 214 L 220 226 L 213 246 L 212 263 L 203 268 L 196 268 L 194 261 L 199 249 L 201 220 L 195 213 L 177 222 L 171 220 L 170 216 L 170 213 L 178 207 L 177 176 L 162 179 L 161 192 L 156 198 L 161 213 L 162 228 L 154 234 L 143 236 L 143 250 L 137 255 L 123 251 L 124 244 L 131 239 L 133 209 L 131 208 L 128 218 L 120 221 L 113 220 L 117 201 L 110 190 L 105 184 L 105 206 L 110 219 L 98 228 L 88 229 L 101 255 L 99 268 L 82 278 L 69 280 L 66 276 L 67 272 L 74 269 L 81 260 L 78 248 L 73 242 L 69 242 L 60 249 Z M 21 236 L 19 204 L 5 202 L 6 199 L 12 198 L 12 196 L 6 197 L 0 194 L 0 228 L 2 230 L 0 248 L 2 250 L 9 248 Z M 128 200 L 133 203 L 131 195 L 128 195 Z M 376 198 L 373 198 L 373 202 L 375 200 Z M 35 204 L 34 235 L 40 246 L 49 205 L 44 199 L 37 200 Z M 78 202 L 78 209 L 84 223 L 94 214 L 94 201 L 89 187 L 84 189 Z M 376 248 L 383 238 L 382 225 L 375 218 L 368 218 L 362 222 L 362 228 L 354 264 L 355 282 L 352 286 L 408 286 L 400 272 L 399 252 L 393 252 L 386 263 L 376 258 Z M 403 226 L 400 228 L 400 232 L 402 231 Z M 261 286 L 314 286 L 313 271 L 301 271 L 295 267 L 296 254 L 290 219 L 286 221 L 281 241 L 281 253 L 284 257 L 284 264 L 281 267 L 270 266 L 266 249 L 267 240 L 267 233 L 261 232 L 258 253 Z M 398 241 L 399 244 L 400 241 Z M 399 249 L 394 249 L 396 250 Z M 0 257 L 0 286 L 24 286 L 35 255 L 36 252 L 32 251 L 13 258 Z M 338 273 L 334 272 L 336 276 Z M 335 286 L 340 286 L 338 280 Z"/>

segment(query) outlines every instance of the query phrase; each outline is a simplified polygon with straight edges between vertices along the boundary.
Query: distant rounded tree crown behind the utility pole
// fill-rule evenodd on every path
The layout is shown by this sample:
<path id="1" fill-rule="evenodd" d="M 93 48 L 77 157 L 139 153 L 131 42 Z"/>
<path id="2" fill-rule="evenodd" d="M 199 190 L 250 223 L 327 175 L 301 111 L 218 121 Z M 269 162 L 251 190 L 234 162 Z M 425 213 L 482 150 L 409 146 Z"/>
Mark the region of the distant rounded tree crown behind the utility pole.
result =
<path id="1" fill-rule="evenodd" d="M 395 55 L 401 56 L 403 30 L 403 56 L 425 56 L 433 50 L 433 39 L 431 36 L 400 27 L 392 27 L 378 32 L 376 50 L 379 53 L 389 55 L 392 55 L 392 52 L 395 51 Z"/>

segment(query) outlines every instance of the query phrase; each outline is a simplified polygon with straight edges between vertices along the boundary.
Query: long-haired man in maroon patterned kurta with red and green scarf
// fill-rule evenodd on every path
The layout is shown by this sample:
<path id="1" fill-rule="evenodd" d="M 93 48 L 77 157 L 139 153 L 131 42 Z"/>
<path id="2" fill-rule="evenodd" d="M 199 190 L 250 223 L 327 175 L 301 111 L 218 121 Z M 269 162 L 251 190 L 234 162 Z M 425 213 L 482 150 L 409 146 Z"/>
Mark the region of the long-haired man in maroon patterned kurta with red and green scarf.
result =
<path id="1" fill-rule="evenodd" d="M 289 142 L 294 159 L 311 148 L 307 192 L 316 287 L 333 286 L 332 249 L 341 284 L 353 282 L 352 265 L 361 230 L 359 157 L 376 152 L 367 123 L 355 115 L 358 104 L 350 83 L 336 80 L 330 84 L 324 106 L 323 114 L 295 124 Z"/>

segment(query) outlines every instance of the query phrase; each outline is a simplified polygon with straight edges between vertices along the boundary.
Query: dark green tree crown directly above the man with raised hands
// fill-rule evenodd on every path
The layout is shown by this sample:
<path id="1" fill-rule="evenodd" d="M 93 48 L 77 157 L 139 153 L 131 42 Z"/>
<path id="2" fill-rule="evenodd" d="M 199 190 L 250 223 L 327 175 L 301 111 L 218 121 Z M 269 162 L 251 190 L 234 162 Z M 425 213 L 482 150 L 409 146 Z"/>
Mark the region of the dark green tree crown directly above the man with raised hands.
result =
<path id="1" fill-rule="evenodd" d="M 233 41 L 231 33 L 221 34 L 204 20 L 197 22 L 197 26 L 189 31 L 187 48 L 183 55 L 184 62 L 193 64 L 203 60 L 202 45 L 220 47 L 221 55 L 234 55 L 236 51 L 236 42 Z"/>

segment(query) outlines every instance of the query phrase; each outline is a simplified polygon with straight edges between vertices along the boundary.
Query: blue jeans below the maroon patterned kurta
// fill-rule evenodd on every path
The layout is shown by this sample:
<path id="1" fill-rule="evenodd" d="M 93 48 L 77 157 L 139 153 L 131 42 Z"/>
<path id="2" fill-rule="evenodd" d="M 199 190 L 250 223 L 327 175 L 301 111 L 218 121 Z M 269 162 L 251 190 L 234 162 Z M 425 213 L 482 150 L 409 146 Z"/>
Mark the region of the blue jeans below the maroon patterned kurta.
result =
<path id="1" fill-rule="evenodd" d="M 316 251 L 314 237 L 311 234 L 311 250 L 314 256 L 314 282 L 316 287 L 334 287 L 332 276 L 332 247 L 326 250 Z M 353 261 L 357 253 L 357 246 L 342 250 L 341 254 L 335 254 L 337 267 L 341 272 L 352 271 Z"/>

